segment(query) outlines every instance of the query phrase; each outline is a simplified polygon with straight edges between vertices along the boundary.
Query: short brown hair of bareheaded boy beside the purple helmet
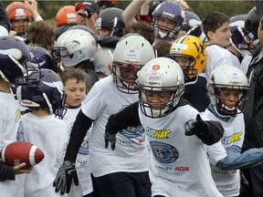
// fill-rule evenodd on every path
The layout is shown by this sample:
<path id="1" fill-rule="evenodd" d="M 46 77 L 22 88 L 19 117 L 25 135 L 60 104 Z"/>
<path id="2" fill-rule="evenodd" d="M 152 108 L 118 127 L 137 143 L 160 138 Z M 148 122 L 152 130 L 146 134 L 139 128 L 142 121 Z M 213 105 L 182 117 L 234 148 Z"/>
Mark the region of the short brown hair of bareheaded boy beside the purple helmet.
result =
<path id="1" fill-rule="evenodd" d="M 74 68 L 68 68 L 68 69 L 60 72 L 58 75 L 61 78 L 64 86 L 66 85 L 68 79 L 77 79 L 77 83 L 79 83 L 79 81 L 85 82 L 85 78 L 84 78 L 83 73 L 79 70 L 74 69 Z"/>

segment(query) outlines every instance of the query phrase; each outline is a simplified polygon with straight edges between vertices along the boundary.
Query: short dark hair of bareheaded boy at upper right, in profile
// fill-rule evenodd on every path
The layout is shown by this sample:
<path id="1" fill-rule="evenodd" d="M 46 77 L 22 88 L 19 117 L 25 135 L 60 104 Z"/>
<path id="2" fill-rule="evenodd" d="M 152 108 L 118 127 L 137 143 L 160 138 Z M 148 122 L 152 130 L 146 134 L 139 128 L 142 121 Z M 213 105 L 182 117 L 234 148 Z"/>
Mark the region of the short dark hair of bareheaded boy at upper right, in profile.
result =
<path id="1" fill-rule="evenodd" d="M 230 23 L 230 19 L 228 16 L 216 11 L 210 12 L 202 21 L 205 36 L 208 37 L 208 31 L 215 33 L 216 29 L 218 29 L 220 26 L 223 26 L 225 23 Z"/>

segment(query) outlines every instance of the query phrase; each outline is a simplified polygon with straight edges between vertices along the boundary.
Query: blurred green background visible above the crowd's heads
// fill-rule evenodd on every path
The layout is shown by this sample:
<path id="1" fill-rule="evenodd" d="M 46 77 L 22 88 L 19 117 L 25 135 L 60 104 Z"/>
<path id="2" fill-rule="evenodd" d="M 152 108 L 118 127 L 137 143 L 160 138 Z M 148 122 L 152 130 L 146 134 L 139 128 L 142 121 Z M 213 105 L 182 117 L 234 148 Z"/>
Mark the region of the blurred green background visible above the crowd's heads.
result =
<path id="1" fill-rule="evenodd" d="M 7 6 L 13 1 L 3 1 L 4 5 Z M 37 0 L 38 3 L 38 11 L 40 15 L 50 22 L 54 27 L 56 26 L 56 14 L 64 5 L 75 5 L 76 2 L 81 1 L 50 1 L 50 0 Z M 199 1 L 199 0 L 191 0 L 187 1 L 187 4 L 193 7 L 195 13 L 202 19 L 207 15 L 210 11 L 219 11 L 225 13 L 227 16 L 231 17 L 237 14 L 247 14 L 248 11 L 255 6 L 255 1 L 252 0 L 234 0 L 234 1 Z M 116 6 L 121 9 L 125 9 L 127 5 L 129 5 L 131 1 L 120 1 L 117 0 Z"/>

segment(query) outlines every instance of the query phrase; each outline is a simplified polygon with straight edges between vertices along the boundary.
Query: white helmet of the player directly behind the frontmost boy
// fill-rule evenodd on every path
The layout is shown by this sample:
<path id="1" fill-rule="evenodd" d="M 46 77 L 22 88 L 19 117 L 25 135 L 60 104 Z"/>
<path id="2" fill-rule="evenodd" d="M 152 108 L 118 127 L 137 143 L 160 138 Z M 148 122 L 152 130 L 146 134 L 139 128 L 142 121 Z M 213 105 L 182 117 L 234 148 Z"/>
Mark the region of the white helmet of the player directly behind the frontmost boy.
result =
<path id="1" fill-rule="evenodd" d="M 113 53 L 112 72 L 117 88 L 125 93 L 138 93 L 135 79 L 122 78 L 121 68 L 140 70 L 148 61 L 154 58 L 153 46 L 143 36 L 128 34 L 122 36 Z"/>

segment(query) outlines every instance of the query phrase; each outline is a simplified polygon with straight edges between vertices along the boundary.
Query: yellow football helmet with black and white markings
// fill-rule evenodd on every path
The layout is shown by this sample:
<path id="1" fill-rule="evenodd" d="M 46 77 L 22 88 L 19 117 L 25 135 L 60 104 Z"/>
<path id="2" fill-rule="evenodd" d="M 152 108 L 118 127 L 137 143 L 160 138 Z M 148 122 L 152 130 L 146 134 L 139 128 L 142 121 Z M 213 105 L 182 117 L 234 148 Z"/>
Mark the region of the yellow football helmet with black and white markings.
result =
<path id="1" fill-rule="evenodd" d="M 201 39 L 196 36 L 181 36 L 177 38 L 167 57 L 174 59 L 183 69 L 184 78 L 194 78 L 199 75 L 206 64 L 206 48 Z"/>

